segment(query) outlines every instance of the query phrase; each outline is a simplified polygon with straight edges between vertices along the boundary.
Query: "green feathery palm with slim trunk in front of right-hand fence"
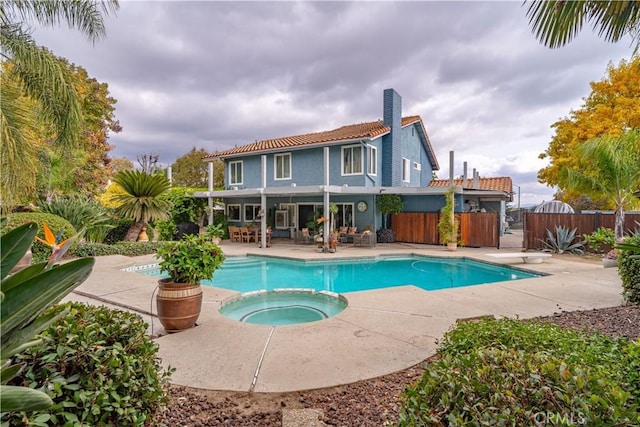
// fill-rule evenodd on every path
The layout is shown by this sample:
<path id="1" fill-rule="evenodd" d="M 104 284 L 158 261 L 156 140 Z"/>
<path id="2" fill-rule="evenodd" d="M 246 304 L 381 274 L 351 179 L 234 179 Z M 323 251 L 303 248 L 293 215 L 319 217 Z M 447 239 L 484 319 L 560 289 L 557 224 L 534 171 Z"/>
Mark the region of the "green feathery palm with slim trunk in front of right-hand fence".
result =
<path id="1" fill-rule="evenodd" d="M 615 205 L 615 239 L 624 237 L 624 210 L 637 205 L 640 189 L 640 130 L 618 137 L 594 138 L 579 148 L 579 164 L 567 169 L 567 186 L 587 195 L 603 197 Z"/>

